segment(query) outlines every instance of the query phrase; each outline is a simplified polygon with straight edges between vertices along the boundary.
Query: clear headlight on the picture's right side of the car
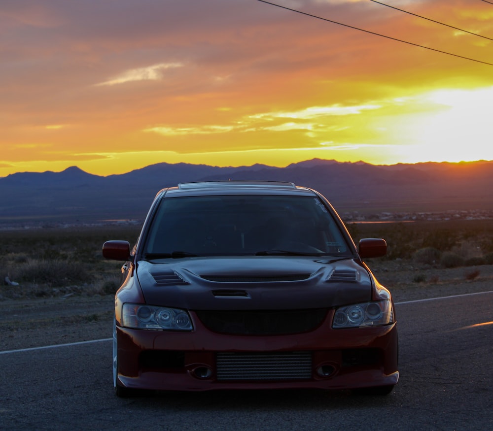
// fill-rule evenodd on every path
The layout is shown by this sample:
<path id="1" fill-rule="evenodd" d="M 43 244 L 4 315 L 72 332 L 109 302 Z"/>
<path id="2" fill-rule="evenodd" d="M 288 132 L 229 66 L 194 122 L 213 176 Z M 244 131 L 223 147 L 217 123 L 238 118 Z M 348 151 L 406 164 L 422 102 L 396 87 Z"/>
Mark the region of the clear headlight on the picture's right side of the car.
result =
<path id="1" fill-rule="evenodd" d="M 393 323 L 394 313 L 389 299 L 346 305 L 336 309 L 332 328 L 359 328 Z"/>

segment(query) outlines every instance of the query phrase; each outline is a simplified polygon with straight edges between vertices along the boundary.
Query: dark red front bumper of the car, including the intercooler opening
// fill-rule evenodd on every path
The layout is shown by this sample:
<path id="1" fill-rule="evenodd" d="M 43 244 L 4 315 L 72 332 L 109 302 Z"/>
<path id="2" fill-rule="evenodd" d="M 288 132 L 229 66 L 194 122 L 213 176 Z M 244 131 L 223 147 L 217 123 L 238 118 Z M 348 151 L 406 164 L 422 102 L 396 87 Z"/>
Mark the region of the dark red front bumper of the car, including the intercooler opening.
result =
<path id="1" fill-rule="evenodd" d="M 116 328 L 118 384 L 177 391 L 352 389 L 397 383 L 396 324 L 333 330 L 332 312 L 295 335 L 225 335 L 190 313 L 192 332 Z"/>

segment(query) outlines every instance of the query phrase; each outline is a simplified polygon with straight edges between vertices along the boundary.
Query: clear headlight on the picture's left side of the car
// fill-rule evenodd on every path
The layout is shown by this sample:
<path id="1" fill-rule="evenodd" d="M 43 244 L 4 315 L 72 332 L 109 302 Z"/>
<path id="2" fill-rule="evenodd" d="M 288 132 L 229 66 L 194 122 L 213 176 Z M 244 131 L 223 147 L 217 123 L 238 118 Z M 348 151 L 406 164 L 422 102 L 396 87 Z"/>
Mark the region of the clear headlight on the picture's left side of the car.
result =
<path id="1" fill-rule="evenodd" d="M 122 326 L 171 331 L 193 329 L 190 316 L 185 310 L 144 304 L 123 304 Z"/>

